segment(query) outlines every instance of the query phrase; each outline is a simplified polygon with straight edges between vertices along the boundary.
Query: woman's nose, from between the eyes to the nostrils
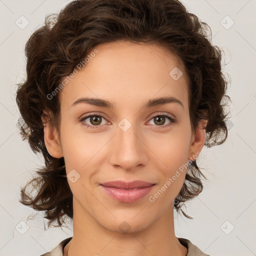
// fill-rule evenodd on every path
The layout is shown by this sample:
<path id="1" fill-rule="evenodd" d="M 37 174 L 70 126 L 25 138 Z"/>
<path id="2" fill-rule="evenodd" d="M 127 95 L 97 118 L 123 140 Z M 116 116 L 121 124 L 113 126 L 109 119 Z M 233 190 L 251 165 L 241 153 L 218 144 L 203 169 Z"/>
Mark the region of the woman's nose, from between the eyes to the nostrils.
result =
<path id="1" fill-rule="evenodd" d="M 133 121 L 135 118 L 133 118 Z M 112 141 L 112 150 L 110 150 L 110 163 L 120 165 L 124 169 L 131 169 L 138 164 L 145 164 L 147 159 L 146 151 L 137 125 L 123 118 L 116 127 L 116 135 Z"/>

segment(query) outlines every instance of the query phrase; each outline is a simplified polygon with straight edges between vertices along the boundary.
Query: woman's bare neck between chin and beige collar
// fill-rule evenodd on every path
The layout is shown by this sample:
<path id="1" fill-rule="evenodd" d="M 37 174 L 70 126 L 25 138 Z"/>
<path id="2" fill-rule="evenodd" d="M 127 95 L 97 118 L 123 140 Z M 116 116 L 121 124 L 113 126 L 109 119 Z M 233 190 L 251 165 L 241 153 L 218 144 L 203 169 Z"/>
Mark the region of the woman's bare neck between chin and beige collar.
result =
<path id="1" fill-rule="evenodd" d="M 73 200 L 73 237 L 64 248 L 64 256 L 185 256 L 187 248 L 181 245 L 174 233 L 173 204 L 158 220 L 147 227 L 134 226 L 127 232 L 100 225 L 82 206 Z M 150 215 L 148 215 L 150 216 Z M 104 216 L 103 216 L 104 217 Z M 104 223 L 104 222 L 103 222 Z M 122 222 L 125 225 L 125 222 Z M 128 230 L 129 229 L 129 230 Z"/>

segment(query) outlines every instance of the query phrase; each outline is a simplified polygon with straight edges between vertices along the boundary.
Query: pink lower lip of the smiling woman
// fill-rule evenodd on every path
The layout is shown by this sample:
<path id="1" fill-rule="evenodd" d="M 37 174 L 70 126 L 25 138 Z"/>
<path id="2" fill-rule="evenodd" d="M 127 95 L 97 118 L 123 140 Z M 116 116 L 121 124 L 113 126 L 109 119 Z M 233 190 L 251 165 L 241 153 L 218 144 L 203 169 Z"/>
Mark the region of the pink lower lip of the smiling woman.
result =
<path id="1" fill-rule="evenodd" d="M 148 194 L 154 185 L 139 187 L 136 189 L 120 189 L 116 187 L 103 186 L 105 192 L 113 199 L 120 202 L 134 202 Z"/>

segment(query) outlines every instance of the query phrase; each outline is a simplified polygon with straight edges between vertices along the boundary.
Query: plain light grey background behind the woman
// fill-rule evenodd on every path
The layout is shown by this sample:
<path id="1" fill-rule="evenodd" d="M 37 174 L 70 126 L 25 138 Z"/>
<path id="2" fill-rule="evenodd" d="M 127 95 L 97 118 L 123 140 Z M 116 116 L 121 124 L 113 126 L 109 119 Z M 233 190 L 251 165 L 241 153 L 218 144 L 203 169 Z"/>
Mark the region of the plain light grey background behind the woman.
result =
<path id="1" fill-rule="evenodd" d="M 44 230 L 42 213 L 18 202 L 20 186 L 43 165 L 43 159 L 33 154 L 27 141 L 21 141 L 15 103 L 15 84 L 25 77 L 25 42 L 46 14 L 58 12 L 68 2 L 0 0 L 0 256 L 39 255 L 72 235 L 71 223 L 69 228 Z M 225 52 L 228 64 L 223 70 L 231 76 L 232 104 L 226 142 L 203 148 L 199 156 L 198 165 L 208 182 L 187 204 L 187 213 L 194 219 L 175 216 L 175 234 L 211 256 L 256 255 L 256 0 L 182 2 L 208 23 L 213 44 Z M 29 22 L 26 27 L 20 27 L 27 22 L 22 15 Z M 31 214 L 34 219 L 28 218 Z M 20 221 L 29 226 L 24 234 L 16 228 L 26 230 Z"/>

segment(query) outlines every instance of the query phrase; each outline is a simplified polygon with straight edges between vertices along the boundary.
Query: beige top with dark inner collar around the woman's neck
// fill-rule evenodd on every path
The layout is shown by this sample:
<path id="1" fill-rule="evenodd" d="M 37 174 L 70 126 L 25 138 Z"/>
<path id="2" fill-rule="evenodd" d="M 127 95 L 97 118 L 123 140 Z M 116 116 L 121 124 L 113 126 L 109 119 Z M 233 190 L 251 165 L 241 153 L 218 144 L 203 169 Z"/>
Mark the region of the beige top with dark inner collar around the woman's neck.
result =
<path id="1" fill-rule="evenodd" d="M 54 249 L 40 256 L 63 256 L 63 248 L 64 246 L 71 240 L 71 237 L 68 237 L 62 240 Z M 193 245 L 188 239 L 177 237 L 179 242 L 187 247 L 186 256 L 209 256 L 208 254 L 203 253 L 198 247 Z"/>

